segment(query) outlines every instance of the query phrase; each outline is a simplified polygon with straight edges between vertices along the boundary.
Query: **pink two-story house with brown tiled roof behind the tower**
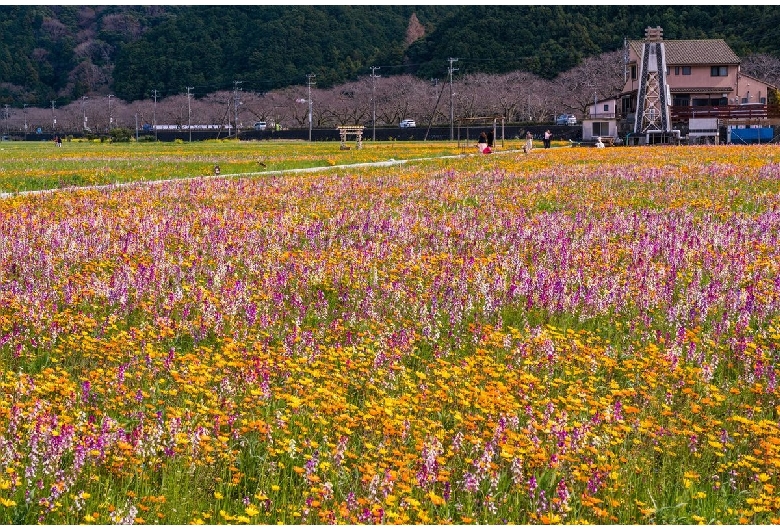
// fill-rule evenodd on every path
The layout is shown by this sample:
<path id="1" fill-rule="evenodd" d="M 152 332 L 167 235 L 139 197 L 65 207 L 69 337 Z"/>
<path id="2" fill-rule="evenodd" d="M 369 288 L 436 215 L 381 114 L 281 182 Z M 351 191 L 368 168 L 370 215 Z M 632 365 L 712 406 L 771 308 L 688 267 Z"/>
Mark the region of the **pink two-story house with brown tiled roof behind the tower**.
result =
<path id="1" fill-rule="evenodd" d="M 623 92 L 594 102 L 583 120 L 583 139 L 621 137 L 635 132 L 642 78 L 643 43 L 661 42 L 664 48 L 664 100 L 671 129 L 684 135 L 717 135 L 701 124 L 748 123 L 765 120 L 768 103 L 777 101 L 777 88 L 740 72 L 740 58 L 722 39 L 663 40 L 661 28 L 647 28 L 645 40 L 626 42 L 626 79 Z M 691 122 L 693 120 L 693 122 Z M 709 121 L 703 121 L 709 120 Z M 712 125 L 706 125 L 712 127 Z M 693 131 L 693 132 L 691 132 Z"/>

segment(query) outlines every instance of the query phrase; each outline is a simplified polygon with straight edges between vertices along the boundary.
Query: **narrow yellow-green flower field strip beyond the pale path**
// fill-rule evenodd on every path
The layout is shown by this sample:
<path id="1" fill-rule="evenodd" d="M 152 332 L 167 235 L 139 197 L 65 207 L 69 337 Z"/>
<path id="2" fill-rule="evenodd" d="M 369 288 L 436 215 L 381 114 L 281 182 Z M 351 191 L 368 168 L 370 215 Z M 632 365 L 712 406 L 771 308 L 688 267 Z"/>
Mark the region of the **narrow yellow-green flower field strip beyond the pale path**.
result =
<path id="1" fill-rule="evenodd" d="M 517 144 L 517 141 L 514 141 Z M 507 146 L 512 142 L 507 142 Z M 339 150 L 338 143 L 239 142 L 99 143 L 4 142 L 0 147 L 0 194 L 41 189 L 124 184 L 127 182 L 220 174 L 253 174 L 293 168 L 328 167 L 404 158 L 459 154 L 456 144 L 366 143 Z M 334 148 L 335 146 L 335 148 Z M 350 142 L 354 147 L 354 142 Z"/>

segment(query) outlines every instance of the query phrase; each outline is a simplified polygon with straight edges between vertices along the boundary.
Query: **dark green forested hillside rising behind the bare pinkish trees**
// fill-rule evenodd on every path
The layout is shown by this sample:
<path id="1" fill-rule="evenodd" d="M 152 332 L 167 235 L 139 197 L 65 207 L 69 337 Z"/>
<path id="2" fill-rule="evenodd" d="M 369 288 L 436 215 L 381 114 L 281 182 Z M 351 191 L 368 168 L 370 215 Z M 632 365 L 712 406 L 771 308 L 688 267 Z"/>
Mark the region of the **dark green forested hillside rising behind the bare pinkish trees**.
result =
<path id="1" fill-rule="evenodd" d="M 661 26 L 780 56 L 774 6 L 3 6 L 0 104 L 525 71 L 552 79 Z M 458 59 L 450 62 L 449 59 Z"/>

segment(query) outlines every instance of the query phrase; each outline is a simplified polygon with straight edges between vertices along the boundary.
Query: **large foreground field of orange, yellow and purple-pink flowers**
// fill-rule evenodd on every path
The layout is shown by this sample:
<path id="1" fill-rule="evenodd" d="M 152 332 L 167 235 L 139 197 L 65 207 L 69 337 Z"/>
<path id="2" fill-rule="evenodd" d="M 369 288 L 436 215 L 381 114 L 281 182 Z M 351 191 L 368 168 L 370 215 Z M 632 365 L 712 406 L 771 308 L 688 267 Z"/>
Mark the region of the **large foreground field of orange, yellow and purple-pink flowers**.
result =
<path id="1" fill-rule="evenodd" d="M 780 523 L 778 238 L 775 146 L 7 197 L 0 523 Z"/>

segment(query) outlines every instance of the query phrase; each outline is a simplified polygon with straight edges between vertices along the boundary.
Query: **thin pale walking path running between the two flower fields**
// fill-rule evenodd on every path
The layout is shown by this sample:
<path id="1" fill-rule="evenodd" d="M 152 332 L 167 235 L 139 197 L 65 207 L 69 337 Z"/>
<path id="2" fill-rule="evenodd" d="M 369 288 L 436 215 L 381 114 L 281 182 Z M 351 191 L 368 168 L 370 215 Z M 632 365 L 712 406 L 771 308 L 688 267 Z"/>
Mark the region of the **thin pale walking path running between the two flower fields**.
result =
<path id="1" fill-rule="evenodd" d="M 356 168 L 356 167 L 400 166 L 403 164 L 407 164 L 409 162 L 422 162 L 426 160 L 443 160 L 447 158 L 457 159 L 457 158 L 466 158 L 470 156 L 496 156 L 501 154 L 509 154 L 509 153 L 517 153 L 517 152 L 522 152 L 522 151 L 519 149 L 517 150 L 510 149 L 507 151 L 493 151 L 490 155 L 469 153 L 469 154 L 461 154 L 461 155 L 442 155 L 442 156 L 427 157 L 427 158 L 410 158 L 405 160 L 396 160 L 394 158 L 391 158 L 390 160 L 383 160 L 381 162 L 360 162 L 357 164 L 343 164 L 343 165 L 336 165 L 336 166 L 319 166 L 319 167 L 278 169 L 278 170 L 270 169 L 266 171 L 252 171 L 249 173 L 222 173 L 219 175 L 198 175 L 193 177 L 178 177 L 173 179 L 162 179 L 162 180 L 135 180 L 132 182 L 122 182 L 122 183 L 115 183 L 115 184 L 96 184 L 92 186 L 69 186 L 66 188 L 50 188 L 46 190 L 11 191 L 11 192 L 0 193 L 0 199 L 7 199 L 9 197 L 18 197 L 23 195 L 43 195 L 47 193 L 58 193 L 63 191 L 74 191 L 74 190 L 110 190 L 110 189 L 118 189 L 118 188 L 129 188 L 132 186 L 149 186 L 149 185 L 166 184 L 171 182 L 179 182 L 179 181 L 186 181 L 186 180 L 193 180 L 193 179 L 254 177 L 258 175 L 277 175 L 280 173 L 311 173 L 315 171 L 327 171 L 333 169 L 345 169 L 345 168 Z"/>

